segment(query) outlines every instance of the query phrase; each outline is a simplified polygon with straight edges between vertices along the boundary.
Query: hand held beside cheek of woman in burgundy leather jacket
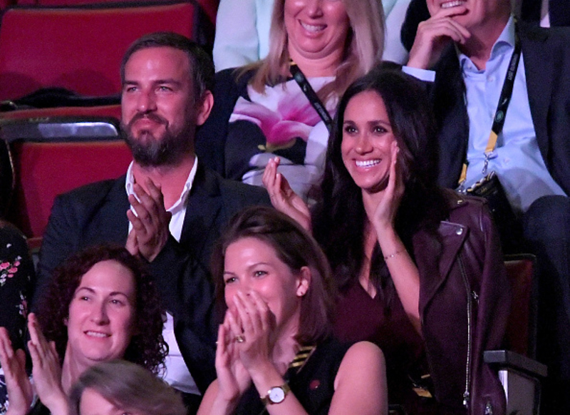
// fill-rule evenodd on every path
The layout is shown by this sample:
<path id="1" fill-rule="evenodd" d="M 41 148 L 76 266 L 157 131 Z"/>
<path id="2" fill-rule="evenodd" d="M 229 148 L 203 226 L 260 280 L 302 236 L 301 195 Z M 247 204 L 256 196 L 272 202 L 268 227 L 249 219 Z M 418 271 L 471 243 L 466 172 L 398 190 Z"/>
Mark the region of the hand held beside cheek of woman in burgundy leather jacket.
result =
<path id="1" fill-rule="evenodd" d="M 384 195 L 378 207 L 374 212 L 373 225 L 378 234 L 378 239 L 387 229 L 392 229 L 394 227 L 394 220 L 396 214 L 398 213 L 398 207 L 400 207 L 400 200 L 404 194 L 404 183 L 402 180 L 401 169 L 398 168 L 398 143 L 394 141 L 392 143 L 391 151 L 391 163 L 390 163 L 390 177 L 388 178 L 388 185 L 384 190 Z"/>

